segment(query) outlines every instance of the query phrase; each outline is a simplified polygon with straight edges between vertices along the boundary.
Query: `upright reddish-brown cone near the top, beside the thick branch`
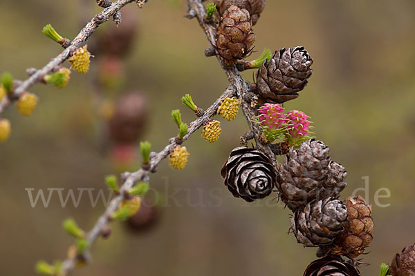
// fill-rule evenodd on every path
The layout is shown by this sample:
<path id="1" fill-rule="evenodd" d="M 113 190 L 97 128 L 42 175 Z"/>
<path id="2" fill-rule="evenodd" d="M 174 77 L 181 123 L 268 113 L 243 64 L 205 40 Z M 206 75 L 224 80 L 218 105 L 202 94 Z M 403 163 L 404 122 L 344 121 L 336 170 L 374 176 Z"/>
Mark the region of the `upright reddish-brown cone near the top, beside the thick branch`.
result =
<path id="1" fill-rule="evenodd" d="M 233 5 L 225 10 L 216 30 L 216 50 L 225 59 L 226 66 L 246 57 L 254 41 L 248 10 Z"/>

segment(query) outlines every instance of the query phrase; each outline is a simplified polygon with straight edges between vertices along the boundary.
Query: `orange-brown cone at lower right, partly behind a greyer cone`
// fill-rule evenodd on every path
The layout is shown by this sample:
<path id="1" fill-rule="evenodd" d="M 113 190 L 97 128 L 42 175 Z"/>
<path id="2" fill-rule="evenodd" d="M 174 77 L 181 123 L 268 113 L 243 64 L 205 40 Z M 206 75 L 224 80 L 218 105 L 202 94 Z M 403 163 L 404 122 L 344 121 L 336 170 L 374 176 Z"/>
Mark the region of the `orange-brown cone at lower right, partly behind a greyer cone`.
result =
<path id="1" fill-rule="evenodd" d="M 371 207 L 360 195 L 348 197 L 344 204 L 347 206 L 347 224 L 344 226 L 344 233 L 338 237 L 332 253 L 357 257 L 365 252 L 373 237 L 374 221 L 371 217 Z"/>

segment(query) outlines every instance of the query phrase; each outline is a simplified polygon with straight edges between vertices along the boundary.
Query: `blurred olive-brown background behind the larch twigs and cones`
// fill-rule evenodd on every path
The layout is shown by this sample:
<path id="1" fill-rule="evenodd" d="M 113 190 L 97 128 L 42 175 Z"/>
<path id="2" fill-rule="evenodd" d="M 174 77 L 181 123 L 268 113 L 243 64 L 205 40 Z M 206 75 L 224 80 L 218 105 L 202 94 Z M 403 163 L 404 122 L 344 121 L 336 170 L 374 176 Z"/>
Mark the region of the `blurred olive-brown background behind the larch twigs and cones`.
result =
<path id="1" fill-rule="evenodd" d="M 72 39 L 99 10 L 93 0 L 1 0 L 0 72 L 26 78 L 26 68 L 42 67 L 61 51 L 42 34 L 44 25 L 52 23 Z M 149 98 L 142 139 L 160 150 L 176 134 L 173 109 L 181 108 L 184 121 L 194 119 L 180 97 L 190 93 L 207 107 L 227 80 L 216 59 L 203 55 L 207 41 L 196 20 L 183 17 L 184 3 L 151 0 L 142 10 L 125 10 L 138 17 L 138 36 L 126 59 L 123 90 Z M 263 48 L 298 45 L 313 57 L 308 86 L 285 107 L 310 115 L 315 136 L 347 168 L 342 198 L 364 187 L 362 177 L 369 176 L 367 200 L 376 226 L 370 254 L 363 256 L 371 266 L 361 268 L 363 275 L 377 275 L 381 262 L 415 242 L 414 14 L 412 0 L 268 0 L 254 27 L 258 52 L 252 58 Z M 73 239 L 61 221 L 74 217 L 89 229 L 104 210 L 102 204 L 92 208 L 87 197 L 77 208 L 62 208 L 56 194 L 48 208 L 32 208 L 25 190 L 105 188 L 104 176 L 115 172 L 94 126 L 92 63 L 85 76 L 73 72 L 64 90 L 33 87 L 40 99 L 33 116 L 21 117 L 14 107 L 2 115 L 12 122 L 12 136 L 0 144 L 0 275 L 33 275 L 38 259 L 64 259 Z M 243 72 L 249 81 L 253 75 Z M 222 127 L 215 144 L 206 143 L 200 131 L 186 142 L 191 155 L 185 170 L 163 162 L 151 175 L 151 186 L 165 196 L 175 193 L 176 200 L 165 199 L 169 206 L 156 228 L 136 235 L 111 224 L 111 238 L 93 247 L 91 266 L 73 275 L 302 275 L 315 248 L 287 235 L 290 211 L 273 197 L 245 204 L 223 186 L 219 170 L 247 125 L 239 115 Z M 387 208 L 375 204 L 379 188 L 391 191 L 390 198 L 380 199 Z"/>

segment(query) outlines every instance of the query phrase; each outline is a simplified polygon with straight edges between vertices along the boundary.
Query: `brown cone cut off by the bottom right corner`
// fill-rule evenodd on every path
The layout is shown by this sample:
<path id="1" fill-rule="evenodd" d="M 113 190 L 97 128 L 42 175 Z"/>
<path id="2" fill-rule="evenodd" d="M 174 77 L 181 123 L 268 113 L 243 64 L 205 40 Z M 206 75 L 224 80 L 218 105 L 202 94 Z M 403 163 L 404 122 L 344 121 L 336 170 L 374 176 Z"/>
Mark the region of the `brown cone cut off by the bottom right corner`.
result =
<path id="1" fill-rule="evenodd" d="M 391 276 L 415 276 L 415 244 L 403 248 L 395 255 L 387 273 Z"/>

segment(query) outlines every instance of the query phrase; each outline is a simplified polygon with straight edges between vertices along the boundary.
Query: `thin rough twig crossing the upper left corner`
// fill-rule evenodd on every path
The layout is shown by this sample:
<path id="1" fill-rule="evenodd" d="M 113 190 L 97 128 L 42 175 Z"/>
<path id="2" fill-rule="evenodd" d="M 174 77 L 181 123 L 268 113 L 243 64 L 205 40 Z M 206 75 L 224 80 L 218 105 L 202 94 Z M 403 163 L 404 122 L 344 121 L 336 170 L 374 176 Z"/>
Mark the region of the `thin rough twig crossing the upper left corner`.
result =
<path id="1" fill-rule="evenodd" d="M 51 59 L 46 64 L 46 66 L 37 70 L 28 79 L 20 81 L 15 87 L 13 97 L 11 99 L 9 97 L 3 97 L 3 99 L 0 101 L 0 114 L 7 108 L 7 106 L 10 105 L 10 103 L 12 103 L 12 101 L 19 99 L 20 95 L 23 92 L 27 91 L 30 87 L 34 86 L 39 81 L 42 81 L 45 75 L 48 75 L 54 68 L 64 63 L 64 61 L 70 57 L 73 50 L 76 50 L 81 45 L 81 43 L 91 37 L 96 28 L 110 19 L 118 10 L 122 9 L 124 6 L 132 2 L 136 2 L 136 0 L 118 0 L 108 8 L 102 10 L 102 12 L 96 14 L 95 17 L 93 17 L 93 19 L 91 19 L 91 21 L 89 21 L 89 23 L 87 23 L 86 26 L 82 28 L 80 33 L 77 34 L 68 48 L 63 50 L 59 55 L 57 55 L 57 57 Z"/>

